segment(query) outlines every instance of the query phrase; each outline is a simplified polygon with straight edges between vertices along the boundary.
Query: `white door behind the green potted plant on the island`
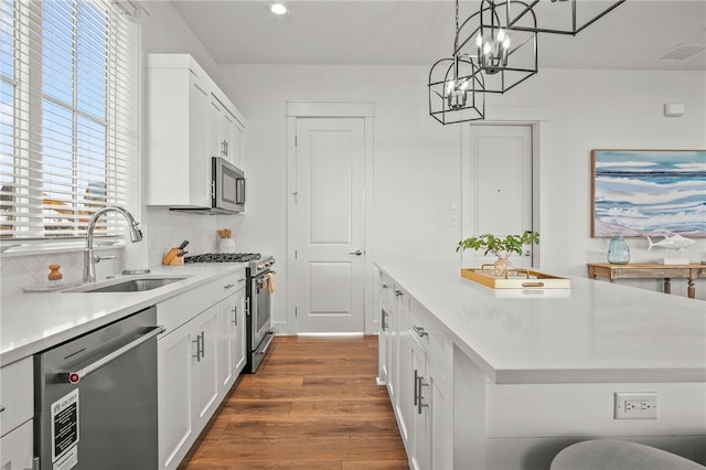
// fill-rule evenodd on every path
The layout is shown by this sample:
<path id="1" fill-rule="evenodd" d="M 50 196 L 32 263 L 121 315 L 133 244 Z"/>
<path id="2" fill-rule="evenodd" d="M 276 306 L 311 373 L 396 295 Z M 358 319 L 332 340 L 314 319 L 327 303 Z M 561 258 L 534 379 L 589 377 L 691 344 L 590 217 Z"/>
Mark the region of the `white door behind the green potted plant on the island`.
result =
<path id="1" fill-rule="evenodd" d="M 464 164 L 464 224 L 462 238 L 485 233 L 522 234 L 532 227 L 531 126 L 471 126 L 469 164 Z M 471 223 L 467 224 L 466 218 Z M 495 257 L 467 250 L 464 265 L 480 267 Z M 513 267 L 532 267 L 532 247 L 512 256 Z"/>

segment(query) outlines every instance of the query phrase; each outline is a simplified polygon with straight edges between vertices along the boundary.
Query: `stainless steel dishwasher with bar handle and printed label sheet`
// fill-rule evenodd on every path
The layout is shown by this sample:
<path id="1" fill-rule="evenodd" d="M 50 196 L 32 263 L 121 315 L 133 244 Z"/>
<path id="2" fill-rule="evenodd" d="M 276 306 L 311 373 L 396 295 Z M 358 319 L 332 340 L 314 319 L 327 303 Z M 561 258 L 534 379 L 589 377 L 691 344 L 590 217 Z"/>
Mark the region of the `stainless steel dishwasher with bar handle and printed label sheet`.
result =
<path id="1" fill-rule="evenodd" d="M 42 470 L 153 470 L 157 309 L 34 356 L 34 450 Z"/>

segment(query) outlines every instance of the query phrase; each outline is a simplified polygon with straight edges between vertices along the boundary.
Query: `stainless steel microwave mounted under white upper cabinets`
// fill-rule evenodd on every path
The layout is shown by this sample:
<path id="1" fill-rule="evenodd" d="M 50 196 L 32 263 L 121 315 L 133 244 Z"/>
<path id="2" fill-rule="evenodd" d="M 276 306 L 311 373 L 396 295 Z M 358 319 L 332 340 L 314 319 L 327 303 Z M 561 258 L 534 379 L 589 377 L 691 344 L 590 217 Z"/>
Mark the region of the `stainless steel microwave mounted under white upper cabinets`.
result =
<path id="1" fill-rule="evenodd" d="M 211 206 L 222 213 L 245 211 L 245 173 L 223 157 L 211 159 Z"/>

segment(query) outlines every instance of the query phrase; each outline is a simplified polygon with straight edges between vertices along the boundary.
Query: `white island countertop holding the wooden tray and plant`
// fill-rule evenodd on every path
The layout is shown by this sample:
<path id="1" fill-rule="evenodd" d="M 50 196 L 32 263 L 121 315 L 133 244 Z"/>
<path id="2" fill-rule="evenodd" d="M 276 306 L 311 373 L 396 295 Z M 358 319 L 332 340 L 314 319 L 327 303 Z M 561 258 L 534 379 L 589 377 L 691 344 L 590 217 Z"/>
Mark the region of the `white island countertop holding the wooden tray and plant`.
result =
<path id="1" fill-rule="evenodd" d="M 706 382 L 702 300 L 588 278 L 523 296 L 456 263 L 376 265 L 495 383 Z"/>

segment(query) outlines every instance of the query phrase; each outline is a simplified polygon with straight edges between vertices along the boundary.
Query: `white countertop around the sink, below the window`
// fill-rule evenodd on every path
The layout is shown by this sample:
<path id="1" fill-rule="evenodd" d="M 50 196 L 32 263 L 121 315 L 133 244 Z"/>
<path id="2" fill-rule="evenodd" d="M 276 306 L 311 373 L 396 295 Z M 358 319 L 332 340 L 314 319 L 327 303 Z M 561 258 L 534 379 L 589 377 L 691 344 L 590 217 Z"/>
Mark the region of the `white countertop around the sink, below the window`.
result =
<path id="1" fill-rule="evenodd" d="M 244 270 L 246 263 L 157 266 L 149 276 L 186 278 L 121 293 L 24 292 L 3 297 L 0 309 L 0 366 L 4 366 L 211 280 Z M 117 276 L 138 278 L 141 276 Z"/>

